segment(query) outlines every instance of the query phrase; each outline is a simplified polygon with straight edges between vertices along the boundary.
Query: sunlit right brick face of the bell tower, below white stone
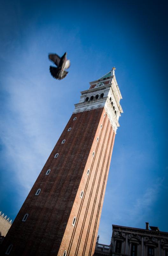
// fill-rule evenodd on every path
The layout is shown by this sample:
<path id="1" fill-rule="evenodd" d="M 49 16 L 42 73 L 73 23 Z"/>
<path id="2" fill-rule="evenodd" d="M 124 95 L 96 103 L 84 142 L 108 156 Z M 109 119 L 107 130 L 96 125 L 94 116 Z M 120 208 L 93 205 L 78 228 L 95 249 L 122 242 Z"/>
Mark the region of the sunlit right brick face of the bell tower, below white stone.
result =
<path id="1" fill-rule="evenodd" d="M 115 133 L 103 110 L 58 255 L 93 255 Z M 100 128 L 102 124 L 102 129 Z M 96 138 L 99 137 L 99 141 Z M 92 152 L 95 151 L 94 157 Z M 87 170 L 90 169 L 89 176 Z M 84 196 L 81 199 L 81 190 Z M 75 227 L 72 226 L 76 217 Z M 53 255 L 53 254 L 52 254 Z"/>

